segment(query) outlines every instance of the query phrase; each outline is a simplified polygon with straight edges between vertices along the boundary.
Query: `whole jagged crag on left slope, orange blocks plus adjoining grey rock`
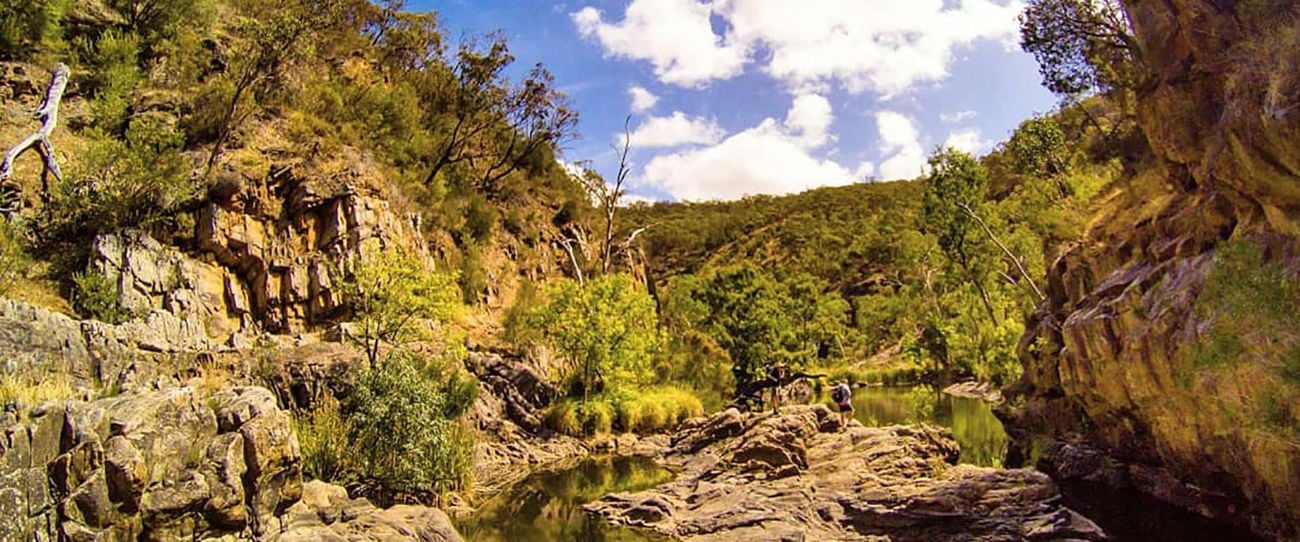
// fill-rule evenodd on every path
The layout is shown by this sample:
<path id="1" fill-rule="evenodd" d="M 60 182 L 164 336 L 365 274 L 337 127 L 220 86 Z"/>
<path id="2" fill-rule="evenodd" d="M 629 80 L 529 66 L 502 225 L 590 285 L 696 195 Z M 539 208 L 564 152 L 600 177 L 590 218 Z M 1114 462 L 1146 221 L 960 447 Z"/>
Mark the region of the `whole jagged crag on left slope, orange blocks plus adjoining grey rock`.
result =
<path id="1" fill-rule="evenodd" d="M 270 152 L 269 149 L 264 149 Z M 165 311 L 195 337 L 240 344 L 240 333 L 289 334 L 329 324 L 342 299 L 330 269 L 378 250 L 422 251 L 417 217 L 399 217 L 372 188 L 378 173 L 308 161 L 265 177 L 225 172 L 199 211 L 188 251 L 139 231 L 95 239 L 91 266 L 134 313 Z"/>

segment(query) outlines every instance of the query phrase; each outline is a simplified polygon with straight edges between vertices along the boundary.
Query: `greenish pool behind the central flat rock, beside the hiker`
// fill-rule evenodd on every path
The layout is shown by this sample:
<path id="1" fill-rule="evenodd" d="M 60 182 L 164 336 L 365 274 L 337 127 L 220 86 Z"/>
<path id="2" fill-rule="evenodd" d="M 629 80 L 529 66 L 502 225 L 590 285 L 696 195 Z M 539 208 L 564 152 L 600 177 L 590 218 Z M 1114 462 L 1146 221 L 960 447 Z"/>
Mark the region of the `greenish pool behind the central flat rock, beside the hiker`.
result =
<path id="1" fill-rule="evenodd" d="M 953 430 L 962 447 L 961 463 L 1002 467 L 1006 432 L 992 407 L 979 399 L 957 398 L 930 386 L 859 387 L 853 408 L 862 425 L 930 422 Z"/>

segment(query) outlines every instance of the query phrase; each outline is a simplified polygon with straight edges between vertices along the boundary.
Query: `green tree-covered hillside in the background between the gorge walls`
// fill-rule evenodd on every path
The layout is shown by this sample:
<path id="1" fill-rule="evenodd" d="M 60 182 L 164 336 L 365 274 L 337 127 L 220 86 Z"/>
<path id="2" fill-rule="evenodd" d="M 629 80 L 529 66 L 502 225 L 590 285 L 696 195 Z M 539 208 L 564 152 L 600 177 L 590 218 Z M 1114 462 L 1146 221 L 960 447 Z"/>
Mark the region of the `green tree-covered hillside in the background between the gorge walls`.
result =
<path id="1" fill-rule="evenodd" d="M 878 382 L 1006 382 L 1019 374 L 1015 348 L 1046 263 L 1082 239 L 1093 205 L 1124 175 L 1119 157 L 1143 152 L 1131 130 L 1091 100 L 1026 121 L 978 161 L 939 152 L 922 179 L 637 204 L 623 226 L 646 227 L 647 274 L 685 359 L 753 357 L 740 363 L 741 380 L 786 361 Z M 771 295 L 733 308 L 716 299 L 745 289 Z M 770 315 L 766 347 L 737 339 L 754 330 L 729 325 L 728 312 L 741 324 Z"/>

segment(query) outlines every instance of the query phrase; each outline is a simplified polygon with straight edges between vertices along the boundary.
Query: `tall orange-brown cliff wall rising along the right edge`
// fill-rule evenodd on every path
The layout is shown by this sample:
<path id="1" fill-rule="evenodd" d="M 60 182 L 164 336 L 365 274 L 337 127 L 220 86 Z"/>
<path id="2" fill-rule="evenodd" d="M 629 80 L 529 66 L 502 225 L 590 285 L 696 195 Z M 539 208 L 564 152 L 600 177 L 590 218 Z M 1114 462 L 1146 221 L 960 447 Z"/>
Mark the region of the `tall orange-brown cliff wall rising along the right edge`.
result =
<path id="1" fill-rule="evenodd" d="M 1138 122 L 1154 160 L 1049 269 L 1005 417 L 1019 452 L 1057 476 L 1296 537 L 1295 317 L 1270 324 L 1282 333 L 1230 331 L 1226 355 L 1206 355 L 1232 316 L 1205 308 L 1226 247 L 1253 247 L 1288 281 L 1300 269 L 1297 6 L 1124 5 L 1149 75 Z M 1295 302 L 1260 299 L 1254 272 L 1222 282 L 1248 305 Z"/>

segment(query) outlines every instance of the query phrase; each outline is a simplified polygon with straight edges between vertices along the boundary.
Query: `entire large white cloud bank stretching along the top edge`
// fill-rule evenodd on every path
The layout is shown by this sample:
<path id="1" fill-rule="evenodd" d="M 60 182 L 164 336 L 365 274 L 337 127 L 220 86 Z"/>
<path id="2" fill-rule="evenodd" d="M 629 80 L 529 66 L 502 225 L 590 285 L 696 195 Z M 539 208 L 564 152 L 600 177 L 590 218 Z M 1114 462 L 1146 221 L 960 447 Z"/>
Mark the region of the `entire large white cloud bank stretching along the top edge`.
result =
<path id="1" fill-rule="evenodd" d="M 1022 9 L 1019 0 L 633 0 L 621 22 L 594 8 L 573 21 L 607 53 L 650 61 L 666 83 L 699 86 L 758 61 L 800 92 L 837 83 L 888 97 L 946 78 L 959 47 L 1014 47 Z"/>

